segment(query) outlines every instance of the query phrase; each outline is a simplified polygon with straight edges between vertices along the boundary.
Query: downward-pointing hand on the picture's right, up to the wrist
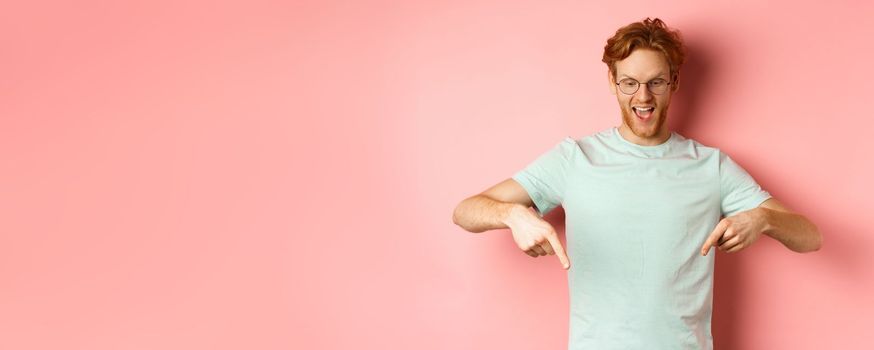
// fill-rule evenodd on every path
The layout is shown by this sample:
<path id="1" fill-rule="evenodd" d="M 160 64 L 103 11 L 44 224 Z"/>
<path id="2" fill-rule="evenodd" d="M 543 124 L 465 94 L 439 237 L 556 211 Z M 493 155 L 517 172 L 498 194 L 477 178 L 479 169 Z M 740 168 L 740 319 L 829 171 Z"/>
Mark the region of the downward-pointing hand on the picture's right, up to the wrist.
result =
<path id="1" fill-rule="evenodd" d="M 707 255 L 710 247 L 716 244 L 719 244 L 719 250 L 726 253 L 738 252 L 751 246 L 765 229 L 765 218 L 759 209 L 743 211 L 719 221 L 701 247 L 701 255 Z"/>

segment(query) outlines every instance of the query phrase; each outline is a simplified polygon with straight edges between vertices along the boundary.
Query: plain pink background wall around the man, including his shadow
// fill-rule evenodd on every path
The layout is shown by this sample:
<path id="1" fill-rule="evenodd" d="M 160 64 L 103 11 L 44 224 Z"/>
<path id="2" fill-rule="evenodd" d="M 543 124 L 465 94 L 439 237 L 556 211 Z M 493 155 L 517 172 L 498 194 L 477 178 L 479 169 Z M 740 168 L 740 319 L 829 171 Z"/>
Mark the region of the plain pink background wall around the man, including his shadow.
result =
<path id="1" fill-rule="evenodd" d="M 646 16 L 674 130 L 824 234 L 718 253 L 717 349 L 874 347 L 874 7 L 765 3 L 6 2 L 0 348 L 566 348 L 558 259 L 451 213 L 618 125 Z"/>

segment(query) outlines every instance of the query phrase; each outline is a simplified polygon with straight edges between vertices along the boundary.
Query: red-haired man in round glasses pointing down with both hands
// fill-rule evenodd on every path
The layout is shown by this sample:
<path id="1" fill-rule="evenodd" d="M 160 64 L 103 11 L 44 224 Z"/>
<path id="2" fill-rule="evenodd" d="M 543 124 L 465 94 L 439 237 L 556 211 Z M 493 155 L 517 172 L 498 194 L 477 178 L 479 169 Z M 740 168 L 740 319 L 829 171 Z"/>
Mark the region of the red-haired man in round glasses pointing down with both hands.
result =
<path id="1" fill-rule="evenodd" d="M 528 255 L 558 256 L 570 349 L 712 349 L 710 248 L 735 253 L 763 234 L 796 252 L 822 244 L 728 155 L 667 129 L 683 60 L 680 33 L 658 18 L 620 28 L 603 61 L 621 125 L 565 138 L 453 213 L 465 230 L 509 228 Z M 559 204 L 569 254 L 541 218 Z"/>

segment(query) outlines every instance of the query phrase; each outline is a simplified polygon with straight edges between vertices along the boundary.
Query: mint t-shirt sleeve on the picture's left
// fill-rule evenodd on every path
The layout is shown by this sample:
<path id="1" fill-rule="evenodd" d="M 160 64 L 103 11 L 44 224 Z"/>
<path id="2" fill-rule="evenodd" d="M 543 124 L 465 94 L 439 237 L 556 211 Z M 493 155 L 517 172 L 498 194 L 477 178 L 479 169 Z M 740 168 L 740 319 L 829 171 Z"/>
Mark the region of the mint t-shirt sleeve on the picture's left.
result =
<path id="1" fill-rule="evenodd" d="M 513 175 L 534 202 L 540 216 L 546 215 L 564 200 L 568 174 L 573 169 L 577 142 L 566 137 Z"/>

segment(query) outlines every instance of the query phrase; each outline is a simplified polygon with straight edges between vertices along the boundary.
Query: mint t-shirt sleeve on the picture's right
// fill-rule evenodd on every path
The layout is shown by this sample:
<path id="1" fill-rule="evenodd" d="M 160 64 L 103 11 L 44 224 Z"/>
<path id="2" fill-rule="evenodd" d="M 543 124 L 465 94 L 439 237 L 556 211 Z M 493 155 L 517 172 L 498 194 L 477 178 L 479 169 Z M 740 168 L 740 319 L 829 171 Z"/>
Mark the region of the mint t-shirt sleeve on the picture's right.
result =
<path id="1" fill-rule="evenodd" d="M 727 154 L 721 152 L 719 155 L 719 185 L 722 215 L 725 217 L 756 208 L 771 198 L 771 194 L 763 190 L 746 170 L 735 163 Z"/>

